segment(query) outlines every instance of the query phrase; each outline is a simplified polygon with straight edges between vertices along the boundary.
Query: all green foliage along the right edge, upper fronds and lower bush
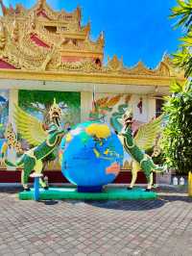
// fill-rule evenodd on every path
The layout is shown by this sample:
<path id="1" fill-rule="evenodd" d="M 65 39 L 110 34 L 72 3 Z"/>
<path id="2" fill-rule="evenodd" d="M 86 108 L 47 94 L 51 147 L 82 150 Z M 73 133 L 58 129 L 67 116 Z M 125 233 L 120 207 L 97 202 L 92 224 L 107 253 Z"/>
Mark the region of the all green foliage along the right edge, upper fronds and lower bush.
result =
<path id="1" fill-rule="evenodd" d="M 192 170 L 192 0 L 178 0 L 171 17 L 177 18 L 176 28 L 184 33 L 178 52 L 173 54 L 173 64 L 184 70 L 186 83 L 173 83 L 173 94 L 166 98 L 164 111 L 169 120 L 162 147 L 169 166 L 187 173 Z"/>

